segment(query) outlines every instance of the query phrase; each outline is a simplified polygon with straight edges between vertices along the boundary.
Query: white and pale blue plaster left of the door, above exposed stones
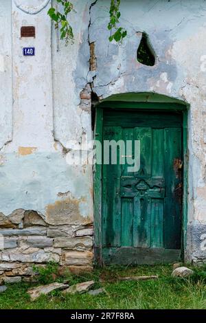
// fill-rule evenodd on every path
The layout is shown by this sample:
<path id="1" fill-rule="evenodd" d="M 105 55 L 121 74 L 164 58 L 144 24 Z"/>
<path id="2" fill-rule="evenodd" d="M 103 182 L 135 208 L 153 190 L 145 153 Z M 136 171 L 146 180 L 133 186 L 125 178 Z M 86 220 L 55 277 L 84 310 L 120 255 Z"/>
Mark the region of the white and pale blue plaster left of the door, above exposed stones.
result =
<path id="1" fill-rule="evenodd" d="M 23 208 L 47 218 L 49 206 L 58 203 L 59 212 L 59 203 L 78 201 L 80 216 L 93 218 L 91 166 L 68 165 L 63 151 L 69 140 L 80 142 L 82 133 L 91 137 L 90 113 L 78 107 L 89 70 L 90 2 L 76 4 L 75 43 L 65 47 L 61 41 L 57 52 L 47 15 L 51 1 L 1 1 L 0 205 L 5 215 Z M 36 38 L 21 38 L 21 26 L 27 25 L 36 27 Z M 35 56 L 23 56 L 23 47 L 30 46 Z"/>

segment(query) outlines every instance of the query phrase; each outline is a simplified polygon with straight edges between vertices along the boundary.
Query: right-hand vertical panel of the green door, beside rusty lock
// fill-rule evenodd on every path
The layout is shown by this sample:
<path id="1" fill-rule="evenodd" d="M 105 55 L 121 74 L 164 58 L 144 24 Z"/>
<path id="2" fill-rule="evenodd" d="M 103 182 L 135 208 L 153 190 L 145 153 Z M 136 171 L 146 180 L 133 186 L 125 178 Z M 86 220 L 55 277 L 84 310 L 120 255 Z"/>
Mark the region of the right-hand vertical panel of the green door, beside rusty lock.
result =
<path id="1" fill-rule="evenodd" d="M 164 247 L 180 249 L 181 241 L 181 200 L 182 200 L 182 164 L 181 164 L 181 129 L 167 128 L 164 131 Z"/>

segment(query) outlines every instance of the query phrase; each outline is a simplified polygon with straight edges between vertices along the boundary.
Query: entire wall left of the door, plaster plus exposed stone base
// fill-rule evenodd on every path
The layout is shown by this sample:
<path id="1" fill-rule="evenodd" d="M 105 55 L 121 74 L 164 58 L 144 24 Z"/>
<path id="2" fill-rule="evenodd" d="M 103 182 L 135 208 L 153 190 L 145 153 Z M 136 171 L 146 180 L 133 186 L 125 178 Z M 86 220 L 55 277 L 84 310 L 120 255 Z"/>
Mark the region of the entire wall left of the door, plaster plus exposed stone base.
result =
<path id="1" fill-rule="evenodd" d="M 32 262 L 92 269 L 92 166 L 67 163 L 69 141 L 91 138 L 91 100 L 84 109 L 80 92 L 92 1 L 73 1 L 76 38 L 67 47 L 47 15 L 51 2 L 0 1 L 0 281 L 1 271 L 30 276 Z M 21 38 L 30 25 L 36 37 Z M 35 56 L 23 56 L 30 46 Z"/>

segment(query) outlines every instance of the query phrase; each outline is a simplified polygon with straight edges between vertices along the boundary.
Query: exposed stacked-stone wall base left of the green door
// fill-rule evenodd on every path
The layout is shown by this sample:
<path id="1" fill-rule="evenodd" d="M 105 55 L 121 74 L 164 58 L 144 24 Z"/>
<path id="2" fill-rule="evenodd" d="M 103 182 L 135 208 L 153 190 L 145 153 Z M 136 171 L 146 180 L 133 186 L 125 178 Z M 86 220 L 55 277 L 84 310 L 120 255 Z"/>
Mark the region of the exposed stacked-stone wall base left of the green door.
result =
<path id="1" fill-rule="evenodd" d="M 49 225 L 35 211 L 0 214 L 0 282 L 27 281 L 33 265 L 59 263 L 59 273 L 80 274 L 93 269 L 93 227 Z"/>

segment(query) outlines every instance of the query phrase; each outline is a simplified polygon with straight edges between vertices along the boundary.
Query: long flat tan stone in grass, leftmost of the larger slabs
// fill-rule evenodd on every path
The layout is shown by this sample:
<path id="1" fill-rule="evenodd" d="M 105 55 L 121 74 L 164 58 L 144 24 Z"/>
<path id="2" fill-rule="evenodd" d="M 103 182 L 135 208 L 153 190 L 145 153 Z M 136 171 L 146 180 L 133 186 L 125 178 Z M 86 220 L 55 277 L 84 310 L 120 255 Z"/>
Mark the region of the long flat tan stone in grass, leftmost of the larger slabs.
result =
<path id="1" fill-rule="evenodd" d="M 43 285 L 43 286 L 38 286 L 33 289 L 29 289 L 27 293 L 30 295 L 32 300 L 36 300 L 39 296 L 47 295 L 48 293 L 51 293 L 51 291 L 56 291 L 58 289 L 66 289 L 68 288 L 69 285 L 67 284 L 62 284 L 60 282 L 53 282 L 52 284 L 49 285 Z"/>

